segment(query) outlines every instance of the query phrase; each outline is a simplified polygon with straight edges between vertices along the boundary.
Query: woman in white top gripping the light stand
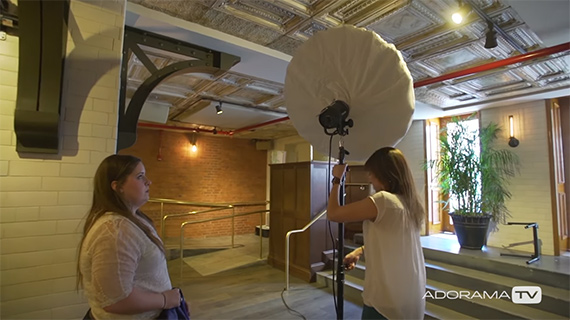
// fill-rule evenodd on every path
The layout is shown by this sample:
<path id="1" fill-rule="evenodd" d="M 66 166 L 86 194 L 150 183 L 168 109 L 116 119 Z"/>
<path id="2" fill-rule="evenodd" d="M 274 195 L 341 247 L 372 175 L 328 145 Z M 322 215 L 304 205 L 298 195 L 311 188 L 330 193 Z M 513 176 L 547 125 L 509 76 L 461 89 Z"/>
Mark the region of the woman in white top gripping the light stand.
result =
<path id="1" fill-rule="evenodd" d="M 376 193 L 339 206 L 346 165 L 333 168 L 328 218 L 363 221 L 364 245 L 344 258 L 348 270 L 366 252 L 362 319 L 423 319 L 426 272 L 420 243 L 424 209 L 402 152 L 386 147 L 366 161 Z"/>

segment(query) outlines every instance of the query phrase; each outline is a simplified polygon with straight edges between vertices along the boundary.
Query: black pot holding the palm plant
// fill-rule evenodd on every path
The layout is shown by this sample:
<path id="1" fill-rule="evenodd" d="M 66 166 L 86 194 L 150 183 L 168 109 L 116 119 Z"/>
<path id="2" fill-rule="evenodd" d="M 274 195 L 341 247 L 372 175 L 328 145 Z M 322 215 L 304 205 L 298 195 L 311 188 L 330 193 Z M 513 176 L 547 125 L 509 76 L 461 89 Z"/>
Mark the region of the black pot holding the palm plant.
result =
<path id="1" fill-rule="evenodd" d="M 455 234 L 461 248 L 481 250 L 487 243 L 487 230 L 491 216 L 461 216 L 453 213 L 450 216 L 453 219 Z"/>

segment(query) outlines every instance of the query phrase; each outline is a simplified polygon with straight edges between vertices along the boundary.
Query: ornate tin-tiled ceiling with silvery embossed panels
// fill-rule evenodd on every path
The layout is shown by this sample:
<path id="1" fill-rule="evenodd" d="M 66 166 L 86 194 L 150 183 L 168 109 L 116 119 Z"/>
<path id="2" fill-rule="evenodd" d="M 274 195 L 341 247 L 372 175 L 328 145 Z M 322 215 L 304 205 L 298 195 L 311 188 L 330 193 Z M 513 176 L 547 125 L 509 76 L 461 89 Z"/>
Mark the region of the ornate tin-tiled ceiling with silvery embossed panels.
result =
<path id="1" fill-rule="evenodd" d="M 466 0 L 489 17 L 498 28 L 496 30 L 500 31 L 497 47 L 492 49 L 484 47 L 488 24 L 478 10 L 471 10 L 459 25 L 451 22 L 451 14 L 458 9 L 456 0 L 129 2 L 289 56 L 294 55 L 295 50 L 315 32 L 342 24 L 363 27 L 378 33 L 401 51 L 416 83 L 545 47 L 543 39 L 509 6 L 508 1 Z M 542 6 L 546 5 L 543 2 Z M 540 5 L 537 6 L 537 10 L 540 9 Z M 566 19 L 570 19 L 568 15 Z M 566 27 L 568 20 L 556 23 Z M 152 50 L 147 54 L 156 65 L 187 59 L 173 54 L 161 55 Z M 530 62 L 418 87 L 416 101 L 419 105 L 435 109 L 460 110 L 462 106 L 486 101 L 566 89 L 570 87 L 567 54 L 568 51 L 552 54 Z M 245 59 L 242 57 L 242 60 Z M 131 91 L 136 90 L 148 76 L 143 64 L 132 56 L 128 73 Z M 223 114 L 204 116 L 203 110 L 211 110 L 214 114 L 219 101 L 222 101 L 222 108 L 226 105 L 227 110 L 232 110 L 228 114 L 231 113 L 236 121 L 222 121 Z M 237 130 L 287 115 L 282 82 L 233 70 L 216 76 L 186 74 L 171 78 L 153 91 L 148 102 L 168 108 L 168 122 L 207 129 Z M 284 121 L 255 131 L 241 131 L 239 136 L 274 139 L 293 134 L 294 128 L 289 121 Z"/>

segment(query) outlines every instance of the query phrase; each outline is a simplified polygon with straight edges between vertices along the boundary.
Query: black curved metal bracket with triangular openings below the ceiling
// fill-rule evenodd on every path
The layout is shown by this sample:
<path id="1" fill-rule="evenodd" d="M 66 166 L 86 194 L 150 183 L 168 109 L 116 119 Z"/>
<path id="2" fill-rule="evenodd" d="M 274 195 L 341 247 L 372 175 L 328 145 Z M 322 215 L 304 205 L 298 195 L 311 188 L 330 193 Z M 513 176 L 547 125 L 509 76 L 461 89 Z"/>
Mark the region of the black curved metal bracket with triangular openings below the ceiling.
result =
<path id="1" fill-rule="evenodd" d="M 220 71 L 227 71 L 240 62 L 239 57 L 231 54 L 210 50 L 128 26 L 125 27 L 124 39 L 119 95 L 118 150 L 128 148 L 136 142 L 137 123 L 143 104 L 152 90 L 163 80 L 178 74 L 193 72 L 215 74 Z M 141 46 L 151 47 L 154 51 L 167 51 L 187 56 L 188 60 L 158 69 Z M 129 105 L 126 106 L 127 74 L 131 54 L 134 54 L 141 61 L 151 75 L 137 88 Z"/>

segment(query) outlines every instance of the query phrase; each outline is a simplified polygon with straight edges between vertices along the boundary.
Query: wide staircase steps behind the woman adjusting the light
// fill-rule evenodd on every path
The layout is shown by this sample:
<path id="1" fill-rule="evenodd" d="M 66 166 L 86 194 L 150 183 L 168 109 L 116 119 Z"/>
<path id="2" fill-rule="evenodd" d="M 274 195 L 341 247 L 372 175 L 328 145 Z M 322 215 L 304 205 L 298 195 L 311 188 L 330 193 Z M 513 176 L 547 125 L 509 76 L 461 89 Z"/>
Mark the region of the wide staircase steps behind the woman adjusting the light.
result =
<path id="1" fill-rule="evenodd" d="M 350 252 L 354 246 L 346 246 Z M 568 259 L 556 267 L 537 268 L 509 263 L 510 259 L 482 258 L 424 247 L 426 259 L 425 319 L 569 319 L 570 270 Z M 543 260 L 555 259 L 544 257 Z M 541 261 L 547 266 L 549 261 Z M 560 265 L 558 265 L 560 267 Z M 560 268 L 558 268 L 560 269 Z M 565 270 L 564 270 L 565 269 Z M 366 262 L 345 274 L 345 299 L 362 304 Z M 332 271 L 317 274 L 317 282 L 331 286 Z M 542 301 L 538 304 L 512 302 L 515 286 L 539 286 Z M 487 295 L 485 295 L 487 293 Z M 534 293 L 534 291 L 532 291 Z M 518 294 L 521 296 L 521 294 Z M 481 297 L 480 297 L 481 296 Z M 522 294 L 525 298 L 526 294 Z"/>

